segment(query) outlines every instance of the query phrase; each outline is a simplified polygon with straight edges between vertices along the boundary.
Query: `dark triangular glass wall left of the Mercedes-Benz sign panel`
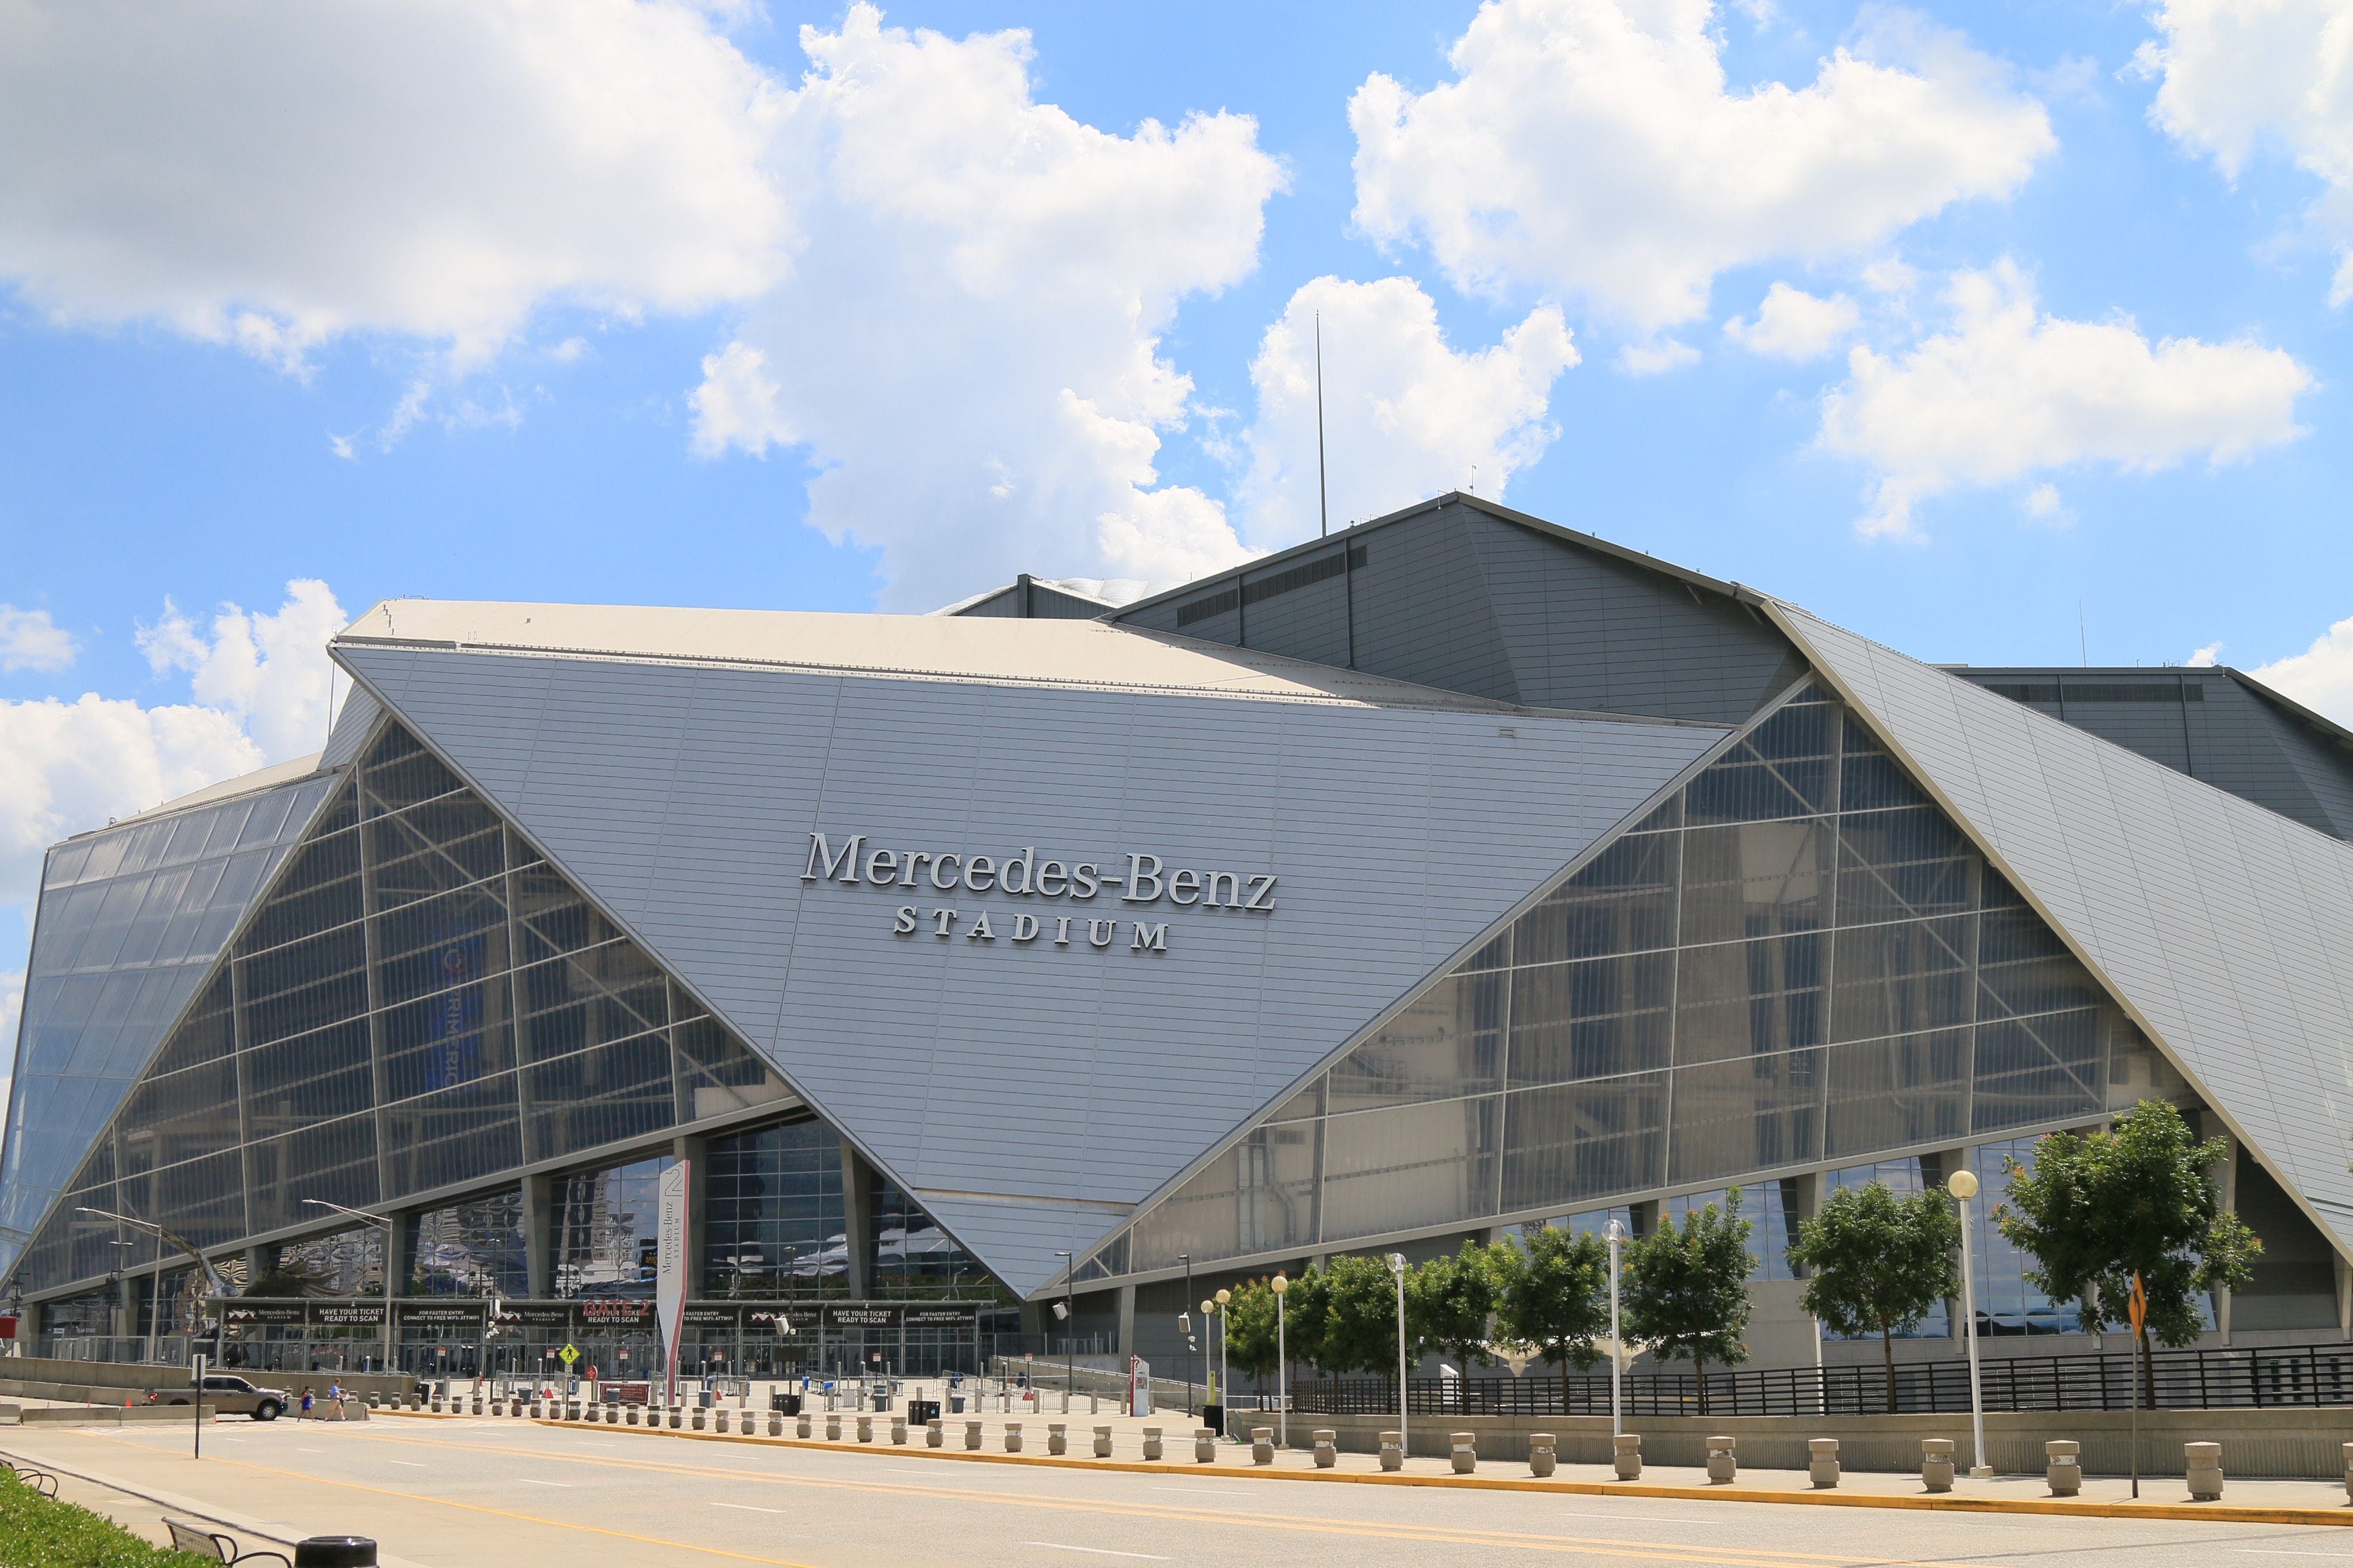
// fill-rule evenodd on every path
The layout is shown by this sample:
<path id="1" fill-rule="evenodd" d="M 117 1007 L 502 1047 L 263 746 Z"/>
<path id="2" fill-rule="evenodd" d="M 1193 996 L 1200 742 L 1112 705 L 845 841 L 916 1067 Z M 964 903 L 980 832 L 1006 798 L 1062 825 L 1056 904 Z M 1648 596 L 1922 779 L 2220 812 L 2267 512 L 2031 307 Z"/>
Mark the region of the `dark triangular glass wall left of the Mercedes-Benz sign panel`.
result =
<path id="1" fill-rule="evenodd" d="M 78 1204 L 195 1246 L 788 1098 L 496 811 L 386 724 L 19 1269 L 120 1267 Z"/>

